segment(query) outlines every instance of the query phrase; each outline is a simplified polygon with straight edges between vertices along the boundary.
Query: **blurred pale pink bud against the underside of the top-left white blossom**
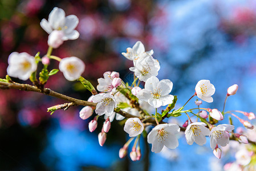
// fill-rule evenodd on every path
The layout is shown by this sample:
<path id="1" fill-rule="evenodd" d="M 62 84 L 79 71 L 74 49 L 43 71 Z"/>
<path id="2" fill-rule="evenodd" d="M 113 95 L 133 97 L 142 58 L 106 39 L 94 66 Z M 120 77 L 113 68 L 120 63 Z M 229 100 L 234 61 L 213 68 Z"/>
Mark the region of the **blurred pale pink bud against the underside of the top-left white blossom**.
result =
<path id="1" fill-rule="evenodd" d="M 58 48 L 63 43 L 64 33 L 61 30 L 54 30 L 48 36 L 48 45 L 52 48 Z"/>

